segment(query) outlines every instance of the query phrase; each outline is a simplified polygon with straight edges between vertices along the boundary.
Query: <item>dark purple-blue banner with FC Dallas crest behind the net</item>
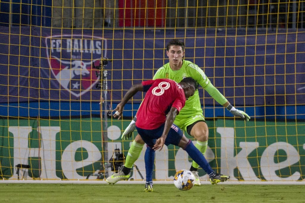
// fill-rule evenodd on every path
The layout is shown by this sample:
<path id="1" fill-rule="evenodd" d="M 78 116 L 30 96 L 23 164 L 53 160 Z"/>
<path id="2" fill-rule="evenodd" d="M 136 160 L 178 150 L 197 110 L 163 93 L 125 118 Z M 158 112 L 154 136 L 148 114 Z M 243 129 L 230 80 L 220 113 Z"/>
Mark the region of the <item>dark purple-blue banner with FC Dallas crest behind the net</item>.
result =
<path id="1" fill-rule="evenodd" d="M 93 66 L 102 57 L 112 59 L 105 67 L 108 99 L 118 102 L 132 84 L 152 79 L 168 62 L 166 45 L 176 37 L 185 41 L 185 59 L 234 105 L 305 103 L 304 32 L 0 29 L 0 102 L 100 102 Z M 199 95 L 214 105 L 206 91 Z M 142 94 L 134 98 L 140 103 Z"/>

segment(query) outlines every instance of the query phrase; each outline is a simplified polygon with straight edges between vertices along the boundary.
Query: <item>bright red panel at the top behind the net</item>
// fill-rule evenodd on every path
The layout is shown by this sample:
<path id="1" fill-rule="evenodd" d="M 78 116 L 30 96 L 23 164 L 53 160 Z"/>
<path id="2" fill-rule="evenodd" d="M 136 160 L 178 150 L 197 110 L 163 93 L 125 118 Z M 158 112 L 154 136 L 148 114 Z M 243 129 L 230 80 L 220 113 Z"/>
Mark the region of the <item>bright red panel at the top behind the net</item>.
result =
<path id="1" fill-rule="evenodd" d="M 164 27 L 165 0 L 119 0 L 120 27 Z"/>

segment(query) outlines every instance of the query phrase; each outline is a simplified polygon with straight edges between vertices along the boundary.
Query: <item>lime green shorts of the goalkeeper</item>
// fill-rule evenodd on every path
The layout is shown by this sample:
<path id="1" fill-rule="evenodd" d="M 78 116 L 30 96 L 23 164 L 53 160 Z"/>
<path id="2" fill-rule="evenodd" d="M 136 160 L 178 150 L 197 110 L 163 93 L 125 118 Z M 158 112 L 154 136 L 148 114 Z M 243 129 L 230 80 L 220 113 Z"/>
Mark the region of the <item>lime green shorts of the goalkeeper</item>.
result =
<path id="1" fill-rule="evenodd" d="M 192 115 L 192 116 L 191 116 Z M 181 130 L 184 130 L 184 132 L 187 132 L 186 127 L 189 125 L 192 125 L 192 123 L 202 120 L 205 122 L 203 114 L 197 113 L 197 114 L 188 114 L 188 115 L 180 115 L 178 114 L 175 118 L 174 124 L 177 125 Z"/>

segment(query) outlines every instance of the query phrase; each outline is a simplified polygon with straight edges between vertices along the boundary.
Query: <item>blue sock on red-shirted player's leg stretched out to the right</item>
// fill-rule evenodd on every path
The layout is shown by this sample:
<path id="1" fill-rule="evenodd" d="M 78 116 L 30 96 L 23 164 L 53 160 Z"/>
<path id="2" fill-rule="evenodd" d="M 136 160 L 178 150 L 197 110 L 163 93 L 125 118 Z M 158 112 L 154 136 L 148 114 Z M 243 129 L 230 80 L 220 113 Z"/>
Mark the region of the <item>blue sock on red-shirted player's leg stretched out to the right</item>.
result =
<path id="1" fill-rule="evenodd" d="M 215 174 L 209 162 L 206 160 L 203 154 L 195 147 L 191 140 L 188 141 L 188 144 L 185 146 L 184 150 L 209 176 L 213 176 Z"/>

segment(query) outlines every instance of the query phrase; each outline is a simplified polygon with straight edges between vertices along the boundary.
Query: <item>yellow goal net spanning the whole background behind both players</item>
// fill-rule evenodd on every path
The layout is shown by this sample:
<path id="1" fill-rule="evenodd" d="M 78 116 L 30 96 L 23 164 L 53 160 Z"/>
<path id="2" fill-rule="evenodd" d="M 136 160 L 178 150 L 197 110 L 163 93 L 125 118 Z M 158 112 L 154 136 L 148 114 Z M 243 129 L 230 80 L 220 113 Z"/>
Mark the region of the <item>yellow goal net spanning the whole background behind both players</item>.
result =
<path id="1" fill-rule="evenodd" d="M 127 155 L 132 139 L 121 135 L 145 94 L 127 103 L 123 120 L 112 109 L 168 62 L 173 38 L 251 117 L 232 117 L 199 87 L 212 168 L 236 183 L 303 181 L 304 8 L 302 0 L 1 1 L 0 181 L 113 173 L 110 159 L 117 149 Z M 101 78 L 95 67 L 104 58 L 112 61 Z M 145 148 L 133 180 L 145 178 Z M 181 148 L 164 146 L 153 179 L 172 180 L 191 163 Z M 199 176 L 208 180 L 202 169 Z"/>

